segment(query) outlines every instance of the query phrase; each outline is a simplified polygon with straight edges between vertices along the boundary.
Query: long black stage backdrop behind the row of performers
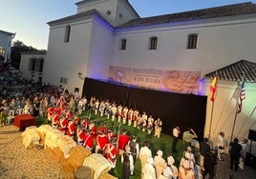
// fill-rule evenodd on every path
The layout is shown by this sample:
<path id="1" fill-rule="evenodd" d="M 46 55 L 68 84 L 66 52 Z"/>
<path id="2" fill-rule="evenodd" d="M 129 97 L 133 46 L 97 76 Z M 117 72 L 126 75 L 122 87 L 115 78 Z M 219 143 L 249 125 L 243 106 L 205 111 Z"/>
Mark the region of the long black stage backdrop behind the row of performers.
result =
<path id="1" fill-rule="evenodd" d="M 146 111 L 155 119 L 160 117 L 163 133 L 171 135 L 174 126 L 179 125 L 181 132 L 190 127 L 203 139 L 206 96 L 131 88 L 89 78 L 85 79 L 83 94 L 114 100 L 129 108 L 139 109 L 139 112 Z"/>

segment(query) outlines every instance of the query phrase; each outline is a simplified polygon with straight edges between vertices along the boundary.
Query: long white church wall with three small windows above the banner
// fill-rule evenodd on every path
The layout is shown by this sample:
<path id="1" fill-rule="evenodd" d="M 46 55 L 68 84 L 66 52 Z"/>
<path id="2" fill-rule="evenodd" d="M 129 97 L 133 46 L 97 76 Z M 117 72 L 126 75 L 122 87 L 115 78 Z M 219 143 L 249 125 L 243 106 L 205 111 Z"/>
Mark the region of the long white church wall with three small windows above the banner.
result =
<path id="1" fill-rule="evenodd" d="M 202 75 L 241 59 L 256 62 L 256 23 L 251 20 L 179 24 L 177 26 L 116 30 L 112 65 L 139 69 L 192 70 Z M 197 50 L 187 50 L 187 35 L 198 33 Z M 158 50 L 148 50 L 149 38 L 158 37 Z M 118 50 L 120 39 L 127 50 Z M 135 63 L 136 62 L 136 63 Z"/>

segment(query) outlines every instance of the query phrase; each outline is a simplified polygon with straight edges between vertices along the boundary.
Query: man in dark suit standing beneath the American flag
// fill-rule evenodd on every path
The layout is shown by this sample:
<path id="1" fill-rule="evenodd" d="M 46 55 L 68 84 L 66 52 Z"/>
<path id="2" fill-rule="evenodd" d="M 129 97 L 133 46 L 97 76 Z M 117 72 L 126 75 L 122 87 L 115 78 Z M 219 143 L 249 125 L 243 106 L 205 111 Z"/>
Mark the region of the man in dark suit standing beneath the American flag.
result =
<path id="1" fill-rule="evenodd" d="M 234 142 L 230 142 L 230 169 L 238 170 L 239 157 L 241 156 L 242 146 L 238 143 L 238 139 L 234 138 Z"/>

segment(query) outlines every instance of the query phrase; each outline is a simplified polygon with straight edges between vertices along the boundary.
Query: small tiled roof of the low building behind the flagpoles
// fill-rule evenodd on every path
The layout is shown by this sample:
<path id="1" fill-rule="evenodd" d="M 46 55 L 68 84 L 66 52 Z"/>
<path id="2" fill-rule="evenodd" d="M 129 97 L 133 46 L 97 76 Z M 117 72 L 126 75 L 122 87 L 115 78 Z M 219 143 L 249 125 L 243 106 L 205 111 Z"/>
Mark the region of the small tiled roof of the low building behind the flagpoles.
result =
<path id="1" fill-rule="evenodd" d="M 205 77 L 214 78 L 218 76 L 220 80 L 242 81 L 243 72 L 245 72 L 245 82 L 256 83 L 256 63 L 240 60 L 220 70 L 205 74 Z"/>

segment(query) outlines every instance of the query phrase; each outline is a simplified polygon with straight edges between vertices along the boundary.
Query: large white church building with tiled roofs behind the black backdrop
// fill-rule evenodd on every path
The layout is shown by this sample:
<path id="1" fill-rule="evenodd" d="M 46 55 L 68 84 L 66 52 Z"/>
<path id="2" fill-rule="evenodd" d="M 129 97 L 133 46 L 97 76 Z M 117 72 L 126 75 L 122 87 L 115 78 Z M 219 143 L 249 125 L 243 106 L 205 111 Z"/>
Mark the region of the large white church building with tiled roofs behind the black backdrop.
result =
<path id="1" fill-rule="evenodd" d="M 40 73 L 43 82 L 71 92 L 82 92 L 83 79 L 89 77 L 150 83 L 150 88 L 173 85 L 170 91 L 209 95 L 212 78 L 203 81 L 206 74 L 241 60 L 256 63 L 256 5 L 250 2 L 146 18 L 139 17 L 128 0 L 83 0 L 75 5 L 74 15 L 48 22 L 49 44 Z M 28 67 L 29 61 L 22 57 L 21 63 Z M 234 96 L 242 79 L 242 71 L 237 71 L 218 80 L 214 109 L 207 102 L 204 136 L 210 132 L 214 139 L 223 130 L 230 139 Z M 246 98 L 236 117 L 234 136 L 240 139 L 247 137 L 248 129 L 256 129 L 256 69 L 252 73 L 252 78 L 245 73 Z M 187 79 L 194 79 L 193 88 L 179 86 Z"/>

